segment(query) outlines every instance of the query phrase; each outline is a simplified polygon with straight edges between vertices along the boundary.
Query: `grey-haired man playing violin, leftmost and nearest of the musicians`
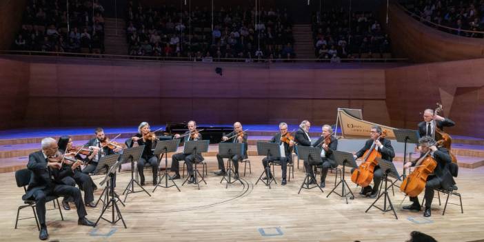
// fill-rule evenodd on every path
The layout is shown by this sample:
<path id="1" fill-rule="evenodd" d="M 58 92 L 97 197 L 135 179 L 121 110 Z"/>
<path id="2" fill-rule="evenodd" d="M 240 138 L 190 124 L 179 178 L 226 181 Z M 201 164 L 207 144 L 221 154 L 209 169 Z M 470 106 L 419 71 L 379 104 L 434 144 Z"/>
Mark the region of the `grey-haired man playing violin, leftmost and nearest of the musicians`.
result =
<path id="1" fill-rule="evenodd" d="M 28 170 L 32 171 L 32 177 L 28 184 L 27 192 L 23 195 L 23 200 L 34 200 L 37 212 L 37 219 L 41 227 L 39 239 L 46 240 L 49 238 L 46 225 L 46 197 L 47 196 L 72 196 L 77 208 L 79 217 L 77 224 L 94 226 L 94 223 L 85 218 L 84 203 L 81 198 L 81 190 L 71 185 L 64 185 L 61 181 L 68 173 L 73 175 L 73 170 L 77 169 L 81 163 L 73 163 L 70 169 L 60 171 L 61 163 L 50 162 L 48 157 L 58 152 L 57 142 L 52 138 L 44 138 L 41 141 L 42 150 L 33 152 L 28 157 Z"/>

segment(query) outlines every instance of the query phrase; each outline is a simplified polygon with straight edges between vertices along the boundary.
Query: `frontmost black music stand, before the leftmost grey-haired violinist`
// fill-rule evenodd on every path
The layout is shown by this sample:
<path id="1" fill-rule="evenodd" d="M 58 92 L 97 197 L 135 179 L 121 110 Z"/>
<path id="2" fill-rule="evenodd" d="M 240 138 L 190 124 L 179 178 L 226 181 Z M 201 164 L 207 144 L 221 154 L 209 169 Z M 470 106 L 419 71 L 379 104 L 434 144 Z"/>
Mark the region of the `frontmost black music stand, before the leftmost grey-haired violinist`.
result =
<path id="1" fill-rule="evenodd" d="M 97 223 L 99 223 L 99 221 L 101 219 L 103 219 L 104 221 L 111 223 L 111 225 L 115 225 L 118 221 L 121 220 L 121 221 L 123 221 L 124 228 L 128 228 L 128 227 L 126 227 L 126 223 L 124 222 L 123 215 L 121 215 L 121 210 L 119 210 L 119 207 L 118 207 L 118 204 L 117 204 L 117 199 L 114 196 L 114 186 L 112 185 L 114 183 L 114 175 L 116 174 L 116 170 L 118 169 L 119 165 L 123 164 L 122 160 L 117 161 L 119 159 L 120 155 L 121 154 L 111 154 L 110 156 L 108 156 L 109 158 L 106 161 L 106 164 L 108 164 L 108 166 L 109 166 L 109 170 L 108 170 L 108 173 L 106 174 L 106 176 L 104 177 L 103 181 L 101 181 L 101 183 L 99 183 L 99 185 L 103 185 L 103 183 L 107 182 L 106 187 L 110 189 L 109 194 L 110 194 L 111 198 L 110 198 L 108 204 L 106 204 L 103 207 L 101 215 L 99 215 L 96 223 L 94 223 L 94 227 L 96 227 Z M 112 220 L 108 220 L 108 219 L 103 218 L 104 212 L 106 212 L 106 210 L 108 210 L 108 208 L 110 208 L 110 207 L 111 207 L 111 212 L 112 212 Z"/>

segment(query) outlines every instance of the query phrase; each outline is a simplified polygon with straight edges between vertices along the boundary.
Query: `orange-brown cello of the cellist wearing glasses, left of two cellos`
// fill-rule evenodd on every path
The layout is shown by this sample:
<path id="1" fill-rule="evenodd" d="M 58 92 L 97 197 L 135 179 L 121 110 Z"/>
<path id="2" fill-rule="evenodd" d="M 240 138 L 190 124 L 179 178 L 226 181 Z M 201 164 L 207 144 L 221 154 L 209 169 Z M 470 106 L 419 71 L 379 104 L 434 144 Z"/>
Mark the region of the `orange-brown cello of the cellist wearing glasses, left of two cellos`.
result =
<path id="1" fill-rule="evenodd" d="M 385 138 L 386 135 L 387 131 L 383 130 L 377 139 Z M 372 147 L 365 151 L 365 154 L 363 154 L 363 163 L 361 163 L 358 169 L 353 171 L 351 181 L 358 184 L 362 188 L 370 185 L 373 180 L 375 166 L 378 165 L 376 157 L 381 159 L 381 152 L 375 150 L 375 143 L 373 143 Z"/>

